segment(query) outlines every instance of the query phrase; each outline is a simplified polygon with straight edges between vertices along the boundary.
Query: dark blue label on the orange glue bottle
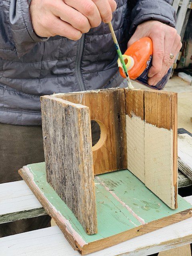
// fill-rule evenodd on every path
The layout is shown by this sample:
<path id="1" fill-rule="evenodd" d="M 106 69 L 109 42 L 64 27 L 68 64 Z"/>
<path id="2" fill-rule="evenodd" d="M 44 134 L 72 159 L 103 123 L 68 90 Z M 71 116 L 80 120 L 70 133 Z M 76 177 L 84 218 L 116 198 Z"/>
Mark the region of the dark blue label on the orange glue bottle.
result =
<path id="1" fill-rule="evenodd" d="M 148 71 L 151 66 L 152 66 L 152 55 L 150 55 L 149 60 L 146 62 L 146 69 L 144 70 L 144 72 L 142 72 L 142 74 L 140 76 L 138 76 L 138 78 L 136 78 L 136 81 L 141 84 L 144 84 L 152 89 L 162 90 L 170 78 L 172 68 L 170 68 L 168 70 L 167 74 L 162 78 L 162 80 L 160 80 L 156 84 L 156 86 L 150 86 L 148 84 Z"/>

